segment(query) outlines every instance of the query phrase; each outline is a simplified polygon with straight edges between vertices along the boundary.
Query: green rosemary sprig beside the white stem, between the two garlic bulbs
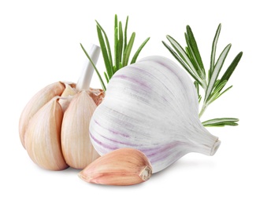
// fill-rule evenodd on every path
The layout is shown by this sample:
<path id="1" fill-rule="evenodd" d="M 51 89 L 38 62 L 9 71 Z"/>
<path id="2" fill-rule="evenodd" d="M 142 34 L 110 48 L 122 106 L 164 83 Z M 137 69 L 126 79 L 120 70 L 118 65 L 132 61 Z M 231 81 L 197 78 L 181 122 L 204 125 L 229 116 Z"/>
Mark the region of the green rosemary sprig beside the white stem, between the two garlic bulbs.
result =
<path id="1" fill-rule="evenodd" d="M 104 31 L 103 27 L 98 23 L 96 20 L 96 28 L 98 34 L 98 42 L 102 50 L 102 56 L 105 63 L 106 71 L 104 72 L 104 76 L 106 78 L 106 82 L 108 83 L 112 76 L 115 74 L 116 71 L 125 67 L 129 64 L 129 59 L 132 53 L 132 47 L 135 42 L 135 32 L 132 33 L 131 37 L 128 39 L 127 37 L 127 30 L 128 30 L 128 16 L 125 22 L 124 30 L 123 24 L 121 21 L 118 21 L 117 15 L 115 15 L 114 19 L 114 46 L 113 46 L 113 53 L 110 48 L 109 38 L 106 35 L 106 31 Z M 132 56 L 132 60 L 130 64 L 135 63 L 137 57 L 139 56 L 140 51 L 143 47 L 147 44 L 150 38 L 147 38 L 141 46 L 137 49 L 134 56 Z M 81 45 L 82 46 L 82 45 Z M 83 52 L 86 54 L 87 58 L 91 61 L 90 56 L 87 54 L 87 51 L 83 48 Z M 97 67 L 93 64 L 95 71 L 98 75 L 98 78 L 102 84 L 102 89 L 106 91 L 106 85 L 102 80 L 101 75 L 98 72 Z"/>

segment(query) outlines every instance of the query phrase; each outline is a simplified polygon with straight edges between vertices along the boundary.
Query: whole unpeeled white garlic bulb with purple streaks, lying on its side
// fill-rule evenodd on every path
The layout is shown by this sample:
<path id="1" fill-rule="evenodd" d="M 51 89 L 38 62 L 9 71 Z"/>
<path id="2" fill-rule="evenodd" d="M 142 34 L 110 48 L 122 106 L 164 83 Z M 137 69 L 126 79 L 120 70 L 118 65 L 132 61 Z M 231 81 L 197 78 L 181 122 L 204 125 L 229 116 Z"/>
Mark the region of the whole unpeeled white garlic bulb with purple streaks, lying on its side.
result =
<path id="1" fill-rule="evenodd" d="M 221 144 L 198 118 L 191 78 L 163 56 L 148 56 L 113 75 L 91 118 L 90 137 L 100 155 L 143 151 L 153 173 L 189 152 L 214 155 Z"/>

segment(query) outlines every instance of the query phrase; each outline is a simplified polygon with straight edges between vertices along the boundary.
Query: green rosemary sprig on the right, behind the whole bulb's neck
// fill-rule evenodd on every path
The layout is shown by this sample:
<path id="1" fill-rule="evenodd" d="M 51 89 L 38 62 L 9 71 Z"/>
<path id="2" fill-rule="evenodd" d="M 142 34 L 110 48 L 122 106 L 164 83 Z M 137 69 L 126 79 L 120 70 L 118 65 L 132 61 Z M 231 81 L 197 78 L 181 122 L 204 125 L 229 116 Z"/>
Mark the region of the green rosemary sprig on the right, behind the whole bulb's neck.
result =
<path id="1" fill-rule="evenodd" d="M 221 24 L 218 25 L 216 34 L 213 38 L 208 75 L 206 75 L 206 69 L 202 63 L 202 58 L 191 27 L 187 25 L 187 32 L 185 32 L 185 39 L 187 43 L 185 49 L 183 49 L 182 46 L 180 46 L 180 43 L 176 42 L 176 40 L 169 35 L 166 37 L 173 48 L 166 42 L 163 42 L 164 46 L 169 50 L 169 52 L 173 54 L 182 67 L 184 67 L 191 77 L 195 79 L 195 87 L 198 92 L 199 103 L 202 99 L 202 95 L 199 93 L 199 86 L 201 86 L 204 90 L 204 99 L 202 102 L 202 109 L 199 112 L 199 117 L 201 117 L 206 111 L 206 107 L 213 103 L 213 101 L 217 100 L 217 98 L 221 97 L 223 93 L 226 93 L 232 88 L 232 86 L 229 86 L 227 89 L 224 89 L 224 86 L 227 84 L 228 79 L 231 77 L 243 55 L 243 52 L 238 53 L 232 63 L 228 66 L 227 70 L 224 72 L 224 75 L 222 75 L 221 78 L 218 78 L 224 65 L 224 60 L 228 56 L 228 52 L 231 48 L 231 44 L 228 44 L 228 46 L 223 49 L 217 60 L 215 59 L 217 41 L 220 33 Z M 224 91 L 222 91 L 222 89 L 224 89 Z M 237 118 L 215 118 L 202 122 L 202 124 L 204 126 L 237 126 L 238 121 L 239 120 Z"/>

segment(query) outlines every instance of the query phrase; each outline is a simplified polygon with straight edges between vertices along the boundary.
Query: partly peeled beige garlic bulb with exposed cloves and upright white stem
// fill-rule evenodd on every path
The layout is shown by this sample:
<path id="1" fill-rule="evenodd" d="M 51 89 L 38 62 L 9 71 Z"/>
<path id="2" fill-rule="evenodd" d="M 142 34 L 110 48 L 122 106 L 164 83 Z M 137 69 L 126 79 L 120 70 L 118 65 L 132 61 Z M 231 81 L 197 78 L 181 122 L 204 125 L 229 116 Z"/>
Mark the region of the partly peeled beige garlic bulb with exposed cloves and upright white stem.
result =
<path id="1" fill-rule="evenodd" d="M 100 49 L 92 46 L 96 63 Z M 77 84 L 55 82 L 29 100 L 20 115 L 20 141 L 33 162 L 44 169 L 83 169 L 99 157 L 89 137 L 89 122 L 102 102 L 102 89 L 91 89 L 92 67 L 85 64 Z"/>

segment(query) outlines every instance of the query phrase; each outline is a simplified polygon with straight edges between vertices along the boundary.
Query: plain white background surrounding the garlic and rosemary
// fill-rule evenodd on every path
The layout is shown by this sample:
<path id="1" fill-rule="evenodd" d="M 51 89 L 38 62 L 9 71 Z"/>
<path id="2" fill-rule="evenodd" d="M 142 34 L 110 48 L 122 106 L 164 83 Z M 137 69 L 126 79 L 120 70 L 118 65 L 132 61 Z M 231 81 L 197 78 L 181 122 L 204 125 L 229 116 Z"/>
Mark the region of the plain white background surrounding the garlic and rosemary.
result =
<path id="1" fill-rule="evenodd" d="M 0 2 L 0 203 L 256 203 L 256 135 L 253 1 L 1 1 Z M 220 138 L 213 157 L 191 153 L 130 187 L 87 184 L 79 170 L 52 172 L 35 166 L 20 144 L 18 121 L 28 100 L 59 80 L 76 82 L 88 49 L 98 44 L 95 20 L 113 38 L 114 14 L 136 32 L 135 47 L 147 37 L 139 57 L 173 56 L 162 45 L 172 35 L 184 46 L 189 24 L 207 67 L 213 36 L 222 24 L 220 53 L 232 43 L 225 67 L 237 53 L 242 60 L 230 78 L 233 88 L 210 105 L 204 118 L 236 117 L 239 126 L 209 128 Z M 113 43 L 112 43 L 113 45 Z M 98 67 L 104 70 L 102 56 Z M 92 87 L 100 88 L 94 75 Z M 88 200 L 91 201 L 88 201 Z"/>

